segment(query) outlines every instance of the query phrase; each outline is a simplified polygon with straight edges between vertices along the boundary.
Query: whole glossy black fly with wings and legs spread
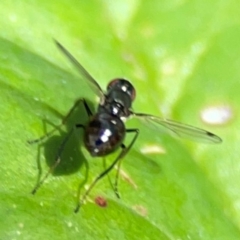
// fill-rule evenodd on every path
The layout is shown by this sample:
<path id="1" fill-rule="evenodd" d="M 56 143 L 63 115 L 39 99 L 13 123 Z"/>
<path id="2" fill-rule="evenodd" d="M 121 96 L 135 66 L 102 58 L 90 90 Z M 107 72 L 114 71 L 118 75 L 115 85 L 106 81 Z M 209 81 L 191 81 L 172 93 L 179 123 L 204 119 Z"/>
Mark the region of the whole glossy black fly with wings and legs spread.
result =
<path id="1" fill-rule="evenodd" d="M 45 179 L 49 176 L 50 173 L 58 166 L 61 161 L 61 153 L 64 149 L 65 144 L 67 143 L 69 137 L 73 133 L 74 129 L 81 128 L 84 131 L 84 144 L 88 152 L 93 157 L 106 156 L 118 148 L 121 148 L 121 152 L 117 158 L 112 162 L 112 164 L 106 168 L 101 174 L 99 174 L 92 184 L 89 186 L 85 194 L 79 200 L 75 212 L 78 212 L 80 206 L 83 204 L 84 200 L 96 185 L 96 183 L 106 176 L 115 165 L 117 165 L 117 175 L 114 184 L 114 191 L 116 196 L 119 198 L 119 193 L 117 189 L 118 174 L 120 169 L 121 160 L 129 152 L 134 142 L 136 141 L 139 129 L 131 128 L 126 129 L 123 118 L 128 118 L 130 116 L 137 117 L 150 121 L 155 124 L 160 124 L 180 137 L 190 137 L 199 139 L 201 141 L 207 141 L 212 143 L 220 143 L 222 140 L 218 136 L 203 129 L 199 129 L 190 125 L 182 124 L 172 120 L 162 119 L 153 115 L 144 114 L 144 113 L 135 113 L 131 110 L 132 102 L 135 99 L 136 93 L 133 85 L 126 79 L 116 78 L 112 80 L 108 86 L 106 92 L 103 92 L 96 80 L 84 69 L 84 67 L 72 56 L 67 49 L 65 49 L 59 42 L 55 41 L 59 50 L 72 62 L 76 67 L 82 77 L 84 77 L 88 83 L 94 88 L 97 95 L 100 97 L 100 103 L 98 105 L 98 110 L 93 114 L 85 101 L 85 99 L 79 99 L 75 105 L 70 109 L 69 113 L 62 120 L 62 123 L 57 128 L 54 128 L 51 132 L 47 133 L 43 137 L 29 141 L 29 143 L 40 142 L 50 135 L 52 135 L 57 129 L 59 129 L 63 124 L 65 124 L 68 117 L 74 111 L 74 109 L 79 105 L 83 104 L 85 110 L 89 116 L 89 121 L 86 125 L 77 124 L 72 130 L 68 133 L 68 136 L 62 142 L 55 163 L 50 167 L 47 174 L 43 177 L 41 181 L 33 189 L 32 193 L 36 193 L 38 188 L 42 185 Z M 124 144 L 124 138 L 126 134 L 132 134 L 133 138 L 131 143 L 128 146 Z"/>

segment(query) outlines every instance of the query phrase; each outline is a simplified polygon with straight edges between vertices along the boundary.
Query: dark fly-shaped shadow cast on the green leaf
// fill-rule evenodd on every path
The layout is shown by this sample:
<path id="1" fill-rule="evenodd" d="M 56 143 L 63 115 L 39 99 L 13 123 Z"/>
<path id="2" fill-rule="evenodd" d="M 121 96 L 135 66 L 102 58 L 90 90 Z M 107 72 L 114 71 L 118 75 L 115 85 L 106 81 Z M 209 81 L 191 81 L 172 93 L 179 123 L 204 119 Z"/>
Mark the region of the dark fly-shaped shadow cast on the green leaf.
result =
<path id="1" fill-rule="evenodd" d="M 76 103 L 78 102 L 79 101 L 76 101 Z M 90 105 L 90 108 L 93 109 L 93 103 L 88 101 L 88 104 Z M 51 169 L 51 167 L 54 166 L 57 157 L 60 157 L 61 159 L 58 165 L 51 172 L 53 176 L 73 174 L 77 172 L 80 168 L 82 168 L 82 166 L 84 165 L 86 168 L 86 174 L 84 182 L 81 183 L 80 186 L 84 185 L 88 179 L 89 171 L 88 161 L 84 157 L 80 148 L 80 146 L 83 144 L 82 141 L 83 130 L 74 128 L 74 126 L 76 126 L 77 124 L 79 123 L 84 124 L 89 120 L 83 104 L 77 104 L 73 112 L 66 116 L 65 120 L 66 121 L 64 122 L 64 125 L 61 127 L 54 125 L 48 120 L 43 120 L 45 126 L 46 124 L 51 125 L 53 131 L 56 130 L 56 134 L 50 136 L 45 134 L 40 139 L 29 141 L 30 143 L 36 143 L 38 141 L 41 142 L 41 144 L 38 145 L 37 154 L 38 176 L 36 186 L 39 185 L 43 173 L 41 161 L 42 152 L 44 154 L 49 169 Z M 45 133 L 46 132 L 47 131 L 45 130 Z"/>

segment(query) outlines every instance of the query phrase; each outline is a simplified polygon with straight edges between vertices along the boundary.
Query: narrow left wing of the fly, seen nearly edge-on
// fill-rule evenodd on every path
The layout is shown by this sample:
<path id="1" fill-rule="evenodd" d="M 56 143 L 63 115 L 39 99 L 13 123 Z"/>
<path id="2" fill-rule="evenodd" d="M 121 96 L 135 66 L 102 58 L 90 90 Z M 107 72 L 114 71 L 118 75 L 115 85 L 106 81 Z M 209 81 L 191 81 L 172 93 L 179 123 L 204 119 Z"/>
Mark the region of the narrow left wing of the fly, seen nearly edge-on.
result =
<path id="1" fill-rule="evenodd" d="M 97 81 L 87 72 L 87 70 L 77 61 L 77 59 L 65 48 L 61 43 L 55 40 L 55 43 L 58 49 L 68 58 L 68 60 L 75 66 L 80 75 L 84 77 L 88 83 L 90 83 L 91 87 L 94 88 L 96 94 L 100 97 L 100 99 L 104 99 L 105 95 L 102 91 L 101 87 L 97 83 Z"/>

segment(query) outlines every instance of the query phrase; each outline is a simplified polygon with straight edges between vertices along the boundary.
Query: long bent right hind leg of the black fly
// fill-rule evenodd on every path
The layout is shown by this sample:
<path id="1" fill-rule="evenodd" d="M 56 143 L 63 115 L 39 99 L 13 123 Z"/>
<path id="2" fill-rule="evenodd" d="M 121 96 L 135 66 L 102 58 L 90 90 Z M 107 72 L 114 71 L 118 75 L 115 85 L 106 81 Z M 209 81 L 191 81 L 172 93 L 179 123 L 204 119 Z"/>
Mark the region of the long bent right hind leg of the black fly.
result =
<path id="1" fill-rule="evenodd" d="M 83 195 L 82 199 L 79 201 L 79 203 L 77 204 L 77 207 L 75 209 L 75 213 L 77 213 L 81 207 L 81 205 L 84 203 L 86 197 L 88 196 L 88 194 L 91 192 L 91 190 L 93 189 L 93 187 L 96 185 L 96 183 L 102 179 L 104 176 L 106 176 L 113 168 L 114 166 L 128 153 L 128 151 L 131 149 L 131 147 L 133 146 L 134 142 L 136 141 L 138 134 L 139 134 L 139 130 L 138 129 L 127 129 L 127 133 L 135 133 L 135 136 L 133 137 L 131 143 L 129 144 L 129 146 L 125 146 L 124 144 L 121 145 L 122 151 L 120 152 L 120 154 L 118 155 L 118 157 L 114 160 L 114 162 L 107 168 L 105 169 L 101 174 L 99 174 L 95 180 L 92 182 L 92 184 L 89 186 L 88 190 L 85 192 L 85 194 Z M 119 172 L 119 170 L 118 170 Z M 118 174 L 119 175 L 119 174 Z M 117 184 L 115 184 L 115 188 L 116 188 Z M 115 191 L 116 193 L 116 191 Z M 117 194 L 116 194 L 117 195 Z"/>

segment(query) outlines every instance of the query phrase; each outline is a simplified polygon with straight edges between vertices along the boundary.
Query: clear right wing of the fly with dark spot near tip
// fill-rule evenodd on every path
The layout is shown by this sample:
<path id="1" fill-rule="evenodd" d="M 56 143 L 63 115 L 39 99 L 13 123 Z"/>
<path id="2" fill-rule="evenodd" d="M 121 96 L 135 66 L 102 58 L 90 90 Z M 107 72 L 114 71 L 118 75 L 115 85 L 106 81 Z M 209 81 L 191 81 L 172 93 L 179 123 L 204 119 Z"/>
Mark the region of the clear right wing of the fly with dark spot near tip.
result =
<path id="1" fill-rule="evenodd" d="M 183 124 L 173 120 L 163 119 L 160 117 L 156 117 L 156 116 L 144 114 L 144 113 L 132 113 L 132 116 L 135 116 L 143 120 L 147 120 L 155 124 L 159 124 L 182 138 L 188 138 L 188 139 L 206 142 L 206 143 L 222 142 L 222 139 L 217 135 L 211 132 L 208 132 L 206 130 L 193 127 L 191 125 Z"/>

